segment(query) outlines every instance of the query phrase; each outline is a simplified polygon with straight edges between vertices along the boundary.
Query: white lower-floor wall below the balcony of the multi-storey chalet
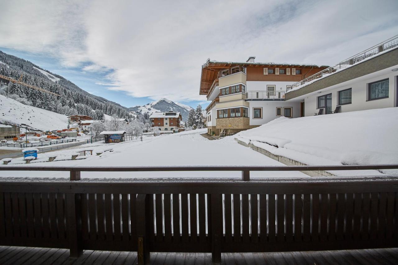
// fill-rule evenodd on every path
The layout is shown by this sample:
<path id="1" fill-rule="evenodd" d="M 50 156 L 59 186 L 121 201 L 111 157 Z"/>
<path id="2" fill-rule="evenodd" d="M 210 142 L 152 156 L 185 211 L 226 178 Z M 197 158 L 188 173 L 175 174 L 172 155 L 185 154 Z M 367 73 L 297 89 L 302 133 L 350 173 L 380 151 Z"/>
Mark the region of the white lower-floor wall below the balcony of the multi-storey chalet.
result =
<path id="1" fill-rule="evenodd" d="M 293 118 L 300 117 L 300 102 L 286 102 L 286 101 L 248 101 L 250 125 L 263 125 L 273 119 L 279 118 L 281 116 L 276 115 L 277 107 L 292 107 L 293 108 Z M 253 119 L 253 108 L 262 107 L 263 108 L 263 118 Z M 282 109 L 283 111 L 283 109 Z M 283 113 L 283 112 L 282 112 Z"/>

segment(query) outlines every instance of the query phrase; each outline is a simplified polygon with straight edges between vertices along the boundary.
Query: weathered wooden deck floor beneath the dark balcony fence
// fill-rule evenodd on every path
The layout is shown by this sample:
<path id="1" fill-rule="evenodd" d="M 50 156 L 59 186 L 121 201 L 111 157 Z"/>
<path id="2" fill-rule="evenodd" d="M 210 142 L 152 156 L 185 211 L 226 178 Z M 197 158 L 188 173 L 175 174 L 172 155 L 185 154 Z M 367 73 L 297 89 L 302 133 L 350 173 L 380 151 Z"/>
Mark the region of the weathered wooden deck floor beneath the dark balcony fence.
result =
<path id="1" fill-rule="evenodd" d="M 336 251 L 222 253 L 222 264 L 398 264 L 398 248 Z M 135 264 L 137 252 L 86 250 L 78 259 L 68 249 L 0 246 L 0 264 Z M 209 253 L 151 253 L 151 264 L 211 264 Z"/>

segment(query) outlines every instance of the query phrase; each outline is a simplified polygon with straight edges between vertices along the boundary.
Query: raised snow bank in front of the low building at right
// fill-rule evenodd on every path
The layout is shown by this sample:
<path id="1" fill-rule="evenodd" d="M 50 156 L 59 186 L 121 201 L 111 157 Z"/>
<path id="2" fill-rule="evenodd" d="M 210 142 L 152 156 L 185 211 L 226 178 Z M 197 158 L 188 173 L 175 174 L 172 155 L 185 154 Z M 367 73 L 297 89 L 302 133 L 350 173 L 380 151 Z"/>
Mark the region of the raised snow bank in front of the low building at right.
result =
<path id="1" fill-rule="evenodd" d="M 397 132 L 398 108 L 384 108 L 296 119 L 280 117 L 235 137 L 308 165 L 367 165 L 398 162 Z M 383 172 L 398 174 L 398 170 Z"/>

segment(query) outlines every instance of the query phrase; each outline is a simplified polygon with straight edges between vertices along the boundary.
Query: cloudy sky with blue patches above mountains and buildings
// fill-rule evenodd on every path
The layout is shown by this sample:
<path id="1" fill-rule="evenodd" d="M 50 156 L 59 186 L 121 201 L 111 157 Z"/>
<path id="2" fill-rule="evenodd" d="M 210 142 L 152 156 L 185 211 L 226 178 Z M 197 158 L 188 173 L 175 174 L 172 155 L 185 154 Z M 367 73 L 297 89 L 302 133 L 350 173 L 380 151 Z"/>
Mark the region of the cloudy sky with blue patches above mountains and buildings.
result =
<path id="1" fill-rule="evenodd" d="M 397 0 L 0 0 L 0 6 L 0 50 L 126 107 L 161 97 L 202 103 L 207 58 L 332 65 L 398 34 Z"/>

